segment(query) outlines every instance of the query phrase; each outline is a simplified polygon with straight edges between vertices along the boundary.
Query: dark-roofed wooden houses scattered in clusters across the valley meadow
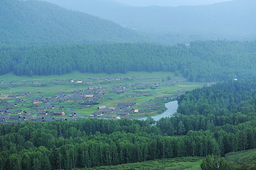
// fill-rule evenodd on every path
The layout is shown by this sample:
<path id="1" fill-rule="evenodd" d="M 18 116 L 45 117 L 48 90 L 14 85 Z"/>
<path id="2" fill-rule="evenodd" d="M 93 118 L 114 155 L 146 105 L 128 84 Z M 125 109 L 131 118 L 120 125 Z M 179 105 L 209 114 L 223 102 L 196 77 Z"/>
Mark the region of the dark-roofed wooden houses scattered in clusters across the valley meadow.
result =
<path id="1" fill-rule="evenodd" d="M 136 77 L 133 76 L 134 78 L 141 78 L 141 77 Z M 86 81 L 74 81 L 74 80 L 69 80 L 70 83 L 92 83 L 92 81 L 94 80 L 130 80 L 131 78 L 114 78 L 114 77 L 106 77 L 106 78 L 89 78 Z M 56 80 L 56 82 L 64 82 L 64 80 Z M 34 84 L 37 84 L 39 82 L 33 82 Z M 76 102 L 93 102 L 93 101 L 99 101 L 101 99 L 106 98 L 105 97 L 105 91 L 112 91 L 112 92 L 122 92 L 125 91 L 129 88 L 136 88 L 138 86 L 159 86 L 159 83 L 155 83 L 153 85 L 150 84 L 144 84 L 144 85 L 140 85 L 139 83 L 134 83 L 134 84 L 125 84 L 125 85 L 114 85 L 112 87 L 88 87 L 86 90 L 81 91 L 81 90 L 71 90 L 70 92 L 56 92 L 56 95 L 52 96 L 52 97 L 31 97 L 29 100 L 33 102 L 33 105 L 35 106 L 34 109 L 37 110 L 37 114 L 40 116 L 43 116 L 46 119 L 49 119 L 47 116 L 49 113 L 54 114 L 55 116 L 65 116 L 66 113 L 64 111 L 62 111 L 64 109 L 63 106 L 60 106 L 59 110 L 53 112 L 50 110 L 46 110 L 46 109 L 55 109 L 54 105 L 49 104 L 51 102 L 57 102 L 57 103 L 61 103 L 61 102 L 68 102 L 68 101 L 76 101 Z M 148 92 L 143 91 L 141 92 L 141 95 L 146 95 L 148 94 Z M 100 95 L 100 96 L 99 96 Z M 129 94 L 127 94 L 129 96 Z M 7 95 L 6 95 L 7 96 Z M 20 93 L 20 94 L 11 94 L 8 95 L 8 98 L 15 98 L 15 102 L 7 102 L 7 101 L 0 101 L 0 104 L 4 104 L 6 107 L 16 107 L 17 103 L 22 103 L 22 105 L 25 105 L 25 102 L 27 102 L 27 100 L 23 100 L 23 99 L 19 99 L 19 97 L 27 97 L 30 96 L 29 92 L 25 92 L 25 93 Z M 155 101 L 157 100 L 164 100 L 164 99 L 172 99 L 172 96 L 163 96 L 163 97 L 156 97 Z M 10 101 L 10 100 L 9 100 Z M 40 107 L 41 103 L 47 103 L 44 105 L 44 107 Z M 97 103 L 98 104 L 98 103 Z M 97 108 L 97 111 L 94 112 L 93 114 L 91 114 L 91 117 L 100 117 L 100 116 L 104 116 L 105 113 L 109 113 L 113 115 L 116 115 L 117 117 L 129 117 L 129 116 L 134 116 L 134 113 L 145 113 L 145 110 L 139 110 L 139 109 L 133 109 L 136 106 L 135 102 L 126 102 L 126 103 L 117 103 L 116 107 L 106 107 L 105 105 L 103 106 L 99 106 Z M 159 103 L 154 103 L 153 100 L 150 100 L 149 103 L 145 104 L 145 107 L 158 107 Z M 58 106 L 59 107 L 59 106 Z M 12 113 L 12 111 L 10 109 L 5 109 L 5 108 L 0 108 L 0 113 L 2 113 L 2 116 L 8 116 Z M 30 111 L 28 110 L 15 110 L 15 113 L 19 114 L 20 116 L 20 120 L 29 120 L 33 118 L 36 118 L 37 114 L 31 114 Z M 21 114 L 24 115 L 21 116 Z M 25 117 L 26 116 L 26 117 Z M 27 117 L 29 116 L 29 117 Z M 69 113 L 70 117 L 76 116 L 76 113 L 74 112 L 70 112 Z M 3 118 L 2 120 L 4 120 L 5 118 Z M 55 118 L 56 119 L 56 118 Z M 1 120 L 1 118 L 0 118 Z M 52 120 L 52 119 L 51 119 Z M 54 120 L 54 118 L 53 118 Z M 47 120 L 48 121 L 48 120 Z"/>

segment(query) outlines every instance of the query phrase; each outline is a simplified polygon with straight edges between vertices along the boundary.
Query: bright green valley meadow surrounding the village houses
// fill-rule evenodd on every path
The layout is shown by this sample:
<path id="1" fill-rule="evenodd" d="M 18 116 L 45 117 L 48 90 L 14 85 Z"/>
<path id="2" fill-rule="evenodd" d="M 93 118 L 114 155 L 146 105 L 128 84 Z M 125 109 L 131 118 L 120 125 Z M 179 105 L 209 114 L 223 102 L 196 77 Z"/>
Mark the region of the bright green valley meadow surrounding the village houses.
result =
<path id="1" fill-rule="evenodd" d="M 167 81 L 167 76 L 171 76 L 171 81 Z M 93 80 L 93 83 L 69 83 L 69 80 L 88 80 L 88 78 L 102 78 L 102 77 L 120 77 L 120 78 L 130 78 L 128 80 Z M 140 78 L 137 78 L 140 77 Z M 164 79 L 164 82 L 162 82 Z M 52 102 L 51 104 L 55 106 L 58 110 L 59 106 L 69 107 L 76 113 L 82 114 L 84 116 L 90 116 L 94 111 L 96 111 L 98 106 L 105 105 L 106 107 L 117 106 L 118 102 L 136 102 L 137 106 L 134 109 L 145 109 L 146 114 L 137 114 L 137 117 L 154 116 L 156 114 L 162 113 L 165 108 L 149 109 L 144 107 L 150 99 L 155 99 L 155 97 L 162 97 L 163 95 L 172 95 L 174 99 L 177 96 L 177 91 L 179 90 L 192 90 L 197 87 L 203 87 L 204 83 L 193 83 L 187 82 L 184 78 L 174 76 L 172 72 L 129 72 L 127 74 L 89 74 L 72 72 L 65 75 L 50 75 L 50 76 L 16 76 L 13 73 L 8 73 L 0 76 L 0 100 L 6 100 L 7 102 L 14 102 L 14 98 L 7 98 L 7 95 L 18 94 L 21 92 L 30 92 L 29 97 L 19 97 L 23 99 L 26 106 L 21 106 L 22 103 L 17 103 L 18 107 L 11 107 L 10 109 L 21 109 L 30 110 L 33 114 L 37 111 L 33 110 L 34 106 L 32 102 L 29 101 L 31 97 L 52 97 L 56 95 L 56 92 L 65 92 L 67 96 L 74 96 L 71 94 L 71 90 L 81 90 L 86 91 L 88 87 L 107 87 L 104 91 L 106 95 L 99 94 L 97 96 L 104 98 L 98 102 L 98 105 L 90 105 L 86 102 L 74 102 L 69 101 L 65 103 Z M 63 83 L 56 82 L 56 80 L 63 80 Z M 9 82 L 14 81 L 15 84 L 9 84 Z M 33 81 L 39 81 L 39 84 L 32 84 Z M 138 87 L 132 87 L 132 84 L 139 83 Z M 146 87 L 146 84 L 150 86 Z M 155 86 L 154 84 L 159 84 Z M 114 85 L 128 86 L 126 90 L 117 93 L 112 90 Z M 40 92 L 40 93 L 39 93 Z M 144 92 L 144 93 L 143 93 Z M 144 95 L 147 94 L 147 95 Z M 161 106 L 168 101 L 155 101 L 159 102 Z M 45 103 L 40 104 L 41 107 Z M 90 107 L 87 107 L 90 105 Z M 4 105 L 0 105 L 4 107 Z M 106 114 L 105 117 L 109 117 L 112 114 Z M 53 116 L 53 115 L 49 115 Z"/>

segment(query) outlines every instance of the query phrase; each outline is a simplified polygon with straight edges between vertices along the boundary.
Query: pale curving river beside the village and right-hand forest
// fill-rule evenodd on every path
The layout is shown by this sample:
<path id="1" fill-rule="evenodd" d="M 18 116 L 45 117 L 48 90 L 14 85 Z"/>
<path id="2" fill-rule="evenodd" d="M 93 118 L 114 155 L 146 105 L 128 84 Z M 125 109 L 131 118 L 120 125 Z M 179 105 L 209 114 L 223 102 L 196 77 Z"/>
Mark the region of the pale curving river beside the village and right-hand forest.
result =
<path id="1" fill-rule="evenodd" d="M 159 114 L 157 116 L 152 116 L 152 118 L 155 121 L 158 121 L 162 117 L 170 117 L 173 113 L 177 112 L 178 102 L 172 101 L 172 102 L 165 103 L 165 107 L 167 108 L 167 110 L 165 112 L 163 112 L 162 114 Z M 146 120 L 146 119 L 147 119 L 147 117 L 139 118 L 139 120 Z"/>

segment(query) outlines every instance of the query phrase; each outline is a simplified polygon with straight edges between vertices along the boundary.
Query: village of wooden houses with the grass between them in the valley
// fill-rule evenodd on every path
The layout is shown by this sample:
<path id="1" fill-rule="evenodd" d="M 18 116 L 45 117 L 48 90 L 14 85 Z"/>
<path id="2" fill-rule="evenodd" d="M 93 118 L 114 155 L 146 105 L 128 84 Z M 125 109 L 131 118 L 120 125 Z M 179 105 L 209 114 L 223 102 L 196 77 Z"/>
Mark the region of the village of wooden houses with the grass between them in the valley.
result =
<path id="1" fill-rule="evenodd" d="M 106 82 L 111 80 L 141 79 L 139 76 L 131 78 L 88 78 L 87 80 L 56 80 L 52 83 L 68 83 L 68 85 L 81 84 L 93 85 L 95 81 Z M 44 82 L 45 83 L 45 82 Z M 13 123 L 17 121 L 54 121 L 54 120 L 77 120 L 78 118 L 140 118 L 151 116 L 152 113 L 164 111 L 164 103 L 173 100 L 173 94 L 153 96 L 152 92 L 160 86 L 169 86 L 171 83 L 126 83 L 112 86 L 89 86 L 81 90 L 56 91 L 48 96 L 45 92 L 20 92 L 17 94 L 0 94 L 0 122 Z M 1 84 L 15 85 L 14 81 Z M 23 84 L 38 85 L 39 81 L 25 82 Z M 84 87 L 84 86 L 83 86 Z M 177 97 L 185 91 L 174 94 Z M 52 93 L 53 94 L 53 93 Z M 116 97 L 120 99 L 117 99 Z M 124 100 L 127 98 L 128 100 Z M 139 99 L 141 98 L 141 99 Z M 138 100 L 139 99 L 139 100 Z M 120 101 L 120 102 L 119 102 Z M 124 102 L 129 101 L 129 102 Z M 138 101 L 138 104 L 137 104 Z"/>

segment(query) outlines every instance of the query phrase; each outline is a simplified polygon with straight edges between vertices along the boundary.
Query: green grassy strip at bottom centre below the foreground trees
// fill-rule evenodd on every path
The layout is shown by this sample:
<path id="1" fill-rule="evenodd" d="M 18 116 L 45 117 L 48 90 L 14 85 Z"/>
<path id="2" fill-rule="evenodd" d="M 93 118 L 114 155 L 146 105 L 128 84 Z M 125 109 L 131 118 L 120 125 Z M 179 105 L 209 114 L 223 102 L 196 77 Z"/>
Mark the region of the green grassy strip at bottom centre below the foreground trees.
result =
<path id="1" fill-rule="evenodd" d="M 75 170 L 200 170 L 202 158 L 183 157 Z"/>

